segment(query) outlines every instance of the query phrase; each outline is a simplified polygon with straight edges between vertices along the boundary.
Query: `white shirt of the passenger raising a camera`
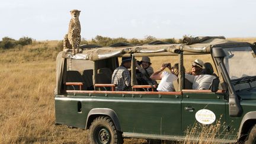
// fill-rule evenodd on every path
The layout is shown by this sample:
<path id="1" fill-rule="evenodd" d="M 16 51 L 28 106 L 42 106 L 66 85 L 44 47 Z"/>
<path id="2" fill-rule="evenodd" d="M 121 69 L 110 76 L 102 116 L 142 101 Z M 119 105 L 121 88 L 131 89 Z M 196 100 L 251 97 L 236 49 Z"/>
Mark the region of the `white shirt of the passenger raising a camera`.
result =
<path id="1" fill-rule="evenodd" d="M 177 76 L 169 73 L 167 71 L 162 72 L 162 79 L 158 85 L 158 88 L 156 90 L 158 91 L 174 91 L 174 85 L 172 84 L 173 81 L 177 80 Z"/>

